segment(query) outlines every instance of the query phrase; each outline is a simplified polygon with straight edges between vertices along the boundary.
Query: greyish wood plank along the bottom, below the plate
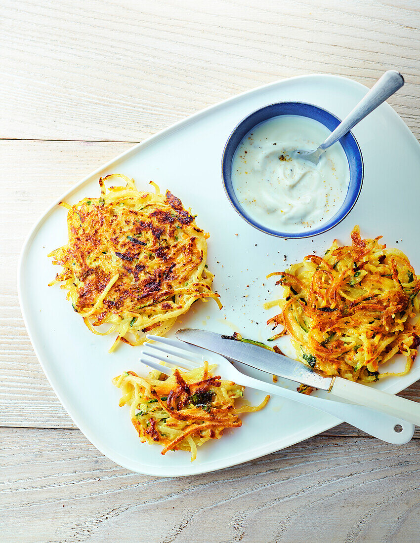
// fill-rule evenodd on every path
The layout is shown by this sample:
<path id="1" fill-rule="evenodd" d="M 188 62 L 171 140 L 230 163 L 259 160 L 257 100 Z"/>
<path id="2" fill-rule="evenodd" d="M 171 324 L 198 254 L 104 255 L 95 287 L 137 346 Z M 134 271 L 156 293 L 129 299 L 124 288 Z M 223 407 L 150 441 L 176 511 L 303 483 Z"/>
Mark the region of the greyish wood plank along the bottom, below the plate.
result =
<path id="1" fill-rule="evenodd" d="M 0 436 L 7 540 L 407 543 L 418 536 L 415 442 L 355 438 L 349 447 L 317 437 L 215 473 L 151 478 L 116 466 L 76 430 L 4 428 Z"/>

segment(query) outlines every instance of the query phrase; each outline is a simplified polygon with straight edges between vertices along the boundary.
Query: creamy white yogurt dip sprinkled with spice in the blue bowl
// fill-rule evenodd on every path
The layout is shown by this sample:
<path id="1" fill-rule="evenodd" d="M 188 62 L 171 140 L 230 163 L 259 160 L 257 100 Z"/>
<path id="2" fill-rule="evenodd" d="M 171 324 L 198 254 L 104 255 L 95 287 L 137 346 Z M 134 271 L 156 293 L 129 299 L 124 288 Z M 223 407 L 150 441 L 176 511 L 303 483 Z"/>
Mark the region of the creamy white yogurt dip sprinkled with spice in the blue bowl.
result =
<path id="1" fill-rule="evenodd" d="M 254 127 L 236 149 L 231 180 L 243 209 L 273 230 L 295 233 L 327 222 L 346 198 L 350 175 L 340 143 L 317 166 L 287 151 L 316 149 L 331 132 L 308 117 L 281 115 Z"/>

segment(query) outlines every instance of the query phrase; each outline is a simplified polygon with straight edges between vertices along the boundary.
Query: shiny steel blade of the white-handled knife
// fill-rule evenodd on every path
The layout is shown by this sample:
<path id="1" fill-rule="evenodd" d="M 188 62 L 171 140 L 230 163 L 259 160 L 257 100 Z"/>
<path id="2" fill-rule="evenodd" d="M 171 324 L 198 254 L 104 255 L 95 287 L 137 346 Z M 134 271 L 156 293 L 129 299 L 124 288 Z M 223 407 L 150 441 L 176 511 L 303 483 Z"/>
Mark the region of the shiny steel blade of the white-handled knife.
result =
<path id="1" fill-rule="evenodd" d="M 272 375 L 285 377 L 297 383 L 310 387 L 329 390 L 333 378 L 323 377 L 302 362 L 293 360 L 277 352 L 262 349 L 252 343 L 243 343 L 229 336 L 221 336 L 215 332 L 184 328 L 175 333 L 178 339 L 192 345 L 197 345 L 208 351 L 217 352 L 227 358 L 232 358 L 252 368 L 265 371 Z"/>

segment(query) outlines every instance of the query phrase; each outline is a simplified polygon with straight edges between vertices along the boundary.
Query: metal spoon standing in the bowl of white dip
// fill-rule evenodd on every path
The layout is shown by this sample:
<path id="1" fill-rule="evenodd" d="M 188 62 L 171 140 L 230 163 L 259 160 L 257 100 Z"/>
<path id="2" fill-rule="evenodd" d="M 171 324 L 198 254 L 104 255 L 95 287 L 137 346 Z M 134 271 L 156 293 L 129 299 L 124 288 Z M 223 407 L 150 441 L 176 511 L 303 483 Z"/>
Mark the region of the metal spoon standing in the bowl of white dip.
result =
<path id="1" fill-rule="evenodd" d="M 325 153 L 331 145 L 340 140 L 340 138 L 352 130 L 359 121 L 369 115 L 369 113 L 376 109 L 378 105 L 385 102 L 387 98 L 392 96 L 394 92 L 397 92 L 403 85 L 403 76 L 396 70 L 388 70 L 380 79 L 378 79 L 372 89 L 360 100 L 358 105 L 350 111 L 344 121 L 341 121 L 334 132 L 331 132 L 324 143 L 321 143 L 321 145 L 313 151 L 304 151 L 302 149 L 293 150 L 289 153 L 289 156 L 294 159 L 299 158 L 309 160 L 317 165 L 319 157 Z"/>

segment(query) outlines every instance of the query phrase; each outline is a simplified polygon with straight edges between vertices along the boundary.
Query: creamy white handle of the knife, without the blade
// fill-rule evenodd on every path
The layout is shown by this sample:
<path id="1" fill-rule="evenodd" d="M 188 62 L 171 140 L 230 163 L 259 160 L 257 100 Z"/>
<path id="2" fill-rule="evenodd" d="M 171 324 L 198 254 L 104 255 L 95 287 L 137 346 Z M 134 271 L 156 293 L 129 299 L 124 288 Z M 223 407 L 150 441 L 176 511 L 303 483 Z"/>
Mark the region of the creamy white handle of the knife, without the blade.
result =
<path id="1" fill-rule="evenodd" d="M 420 426 L 420 403 L 336 377 L 330 394 Z"/>

